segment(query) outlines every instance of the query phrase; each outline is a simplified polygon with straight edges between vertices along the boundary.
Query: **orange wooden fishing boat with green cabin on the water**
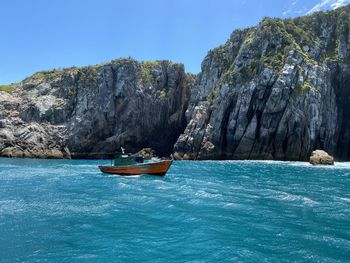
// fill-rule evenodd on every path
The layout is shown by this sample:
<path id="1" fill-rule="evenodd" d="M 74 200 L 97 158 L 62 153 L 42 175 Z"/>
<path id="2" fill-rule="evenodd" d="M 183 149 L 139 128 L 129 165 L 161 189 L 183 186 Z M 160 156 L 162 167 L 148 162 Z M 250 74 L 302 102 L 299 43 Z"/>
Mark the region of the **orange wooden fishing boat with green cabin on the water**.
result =
<path id="1" fill-rule="evenodd" d="M 124 176 L 139 174 L 164 176 L 169 170 L 172 162 L 173 160 L 161 160 L 159 158 L 144 160 L 142 156 L 125 154 L 123 151 L 123 153 L 116 154 L 113 165 L 100 165 L 98 168 L 103 173 L 118 174 Z"/>

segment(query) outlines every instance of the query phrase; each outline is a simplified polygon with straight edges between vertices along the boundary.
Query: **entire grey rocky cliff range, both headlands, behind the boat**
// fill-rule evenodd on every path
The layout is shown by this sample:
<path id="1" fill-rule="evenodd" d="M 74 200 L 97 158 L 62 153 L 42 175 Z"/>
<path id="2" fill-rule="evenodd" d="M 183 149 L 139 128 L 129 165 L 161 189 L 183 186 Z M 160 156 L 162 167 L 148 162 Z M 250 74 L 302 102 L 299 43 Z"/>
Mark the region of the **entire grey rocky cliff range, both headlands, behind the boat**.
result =
<path id="1" fill-rule="evenodd" d="M 195 83 L 169 61 L 39 72 L 0 87 L 0 155 L 349 160 L 349 32 L 350 6 L 265 18 L 209 51 Z"/>

